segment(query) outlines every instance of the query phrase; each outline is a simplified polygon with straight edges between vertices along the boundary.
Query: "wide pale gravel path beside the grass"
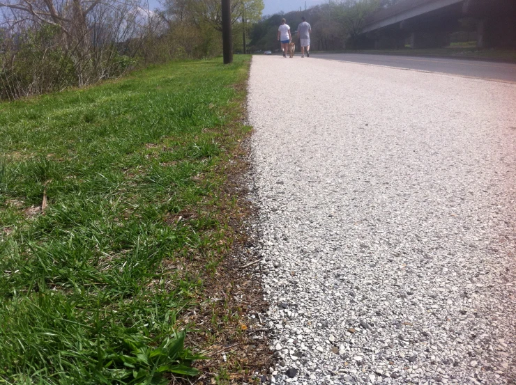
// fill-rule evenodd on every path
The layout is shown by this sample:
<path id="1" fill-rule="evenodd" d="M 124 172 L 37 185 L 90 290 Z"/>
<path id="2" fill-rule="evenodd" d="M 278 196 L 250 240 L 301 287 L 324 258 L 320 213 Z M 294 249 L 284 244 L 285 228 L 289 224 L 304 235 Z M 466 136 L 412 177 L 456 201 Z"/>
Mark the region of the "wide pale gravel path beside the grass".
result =
<path id="1" fill-rule="evenodd" d="M 516 85 L 255 56 L 249 91 L 268 381 L 516 383 Z"/>

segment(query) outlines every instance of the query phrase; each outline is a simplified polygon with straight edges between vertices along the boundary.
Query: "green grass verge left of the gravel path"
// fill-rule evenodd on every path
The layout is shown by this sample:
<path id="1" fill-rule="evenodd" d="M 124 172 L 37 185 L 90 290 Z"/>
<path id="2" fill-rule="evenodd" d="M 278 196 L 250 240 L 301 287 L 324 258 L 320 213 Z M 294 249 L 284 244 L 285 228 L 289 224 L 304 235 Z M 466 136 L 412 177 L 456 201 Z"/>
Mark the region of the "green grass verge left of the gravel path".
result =
<path id="1" fill-rule="evenodd" d="M 181 315 L 232 243 L 248 61 L 0 103 L 0 384 L 195 375 Z"/>

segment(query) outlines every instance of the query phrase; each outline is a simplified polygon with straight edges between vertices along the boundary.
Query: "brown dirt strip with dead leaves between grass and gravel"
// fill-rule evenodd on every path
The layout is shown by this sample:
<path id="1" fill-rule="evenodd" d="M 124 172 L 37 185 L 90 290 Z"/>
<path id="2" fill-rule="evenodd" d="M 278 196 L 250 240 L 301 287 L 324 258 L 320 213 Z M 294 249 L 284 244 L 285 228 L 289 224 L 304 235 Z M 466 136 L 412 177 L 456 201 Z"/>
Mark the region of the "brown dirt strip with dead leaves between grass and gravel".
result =
<path id="1" fill-rule="evenodd" d="M 205 352 L 210 359 L 197 361 L 195 366 L 202 375 L 183 383 L 254 384 L 255 373 L 266 375 L 273 362 L 268 349 L 268 327 L 263 323 L 268 304 L 264 301 L 261 274 L 255 270 L 259 256 L 252 249 L 257 244 L 257 234 L 249 226 L 255 221 L 256 212 L 245 187 L 250 167 L 248 141 L 238 146 L 233 159 L 225 168 L 230 177 L 222 194 L 228 202 L 221 215 L 231 226 L 235 240 L 215 272 L 203 276 L 204 301 L 182 319 L 190 329 L 197 330 L 188 333 L 187 345 Z M 229 205 L 234 199 L 236 204 Z M 195 263 L 187 267 L 195 268 Z"/>

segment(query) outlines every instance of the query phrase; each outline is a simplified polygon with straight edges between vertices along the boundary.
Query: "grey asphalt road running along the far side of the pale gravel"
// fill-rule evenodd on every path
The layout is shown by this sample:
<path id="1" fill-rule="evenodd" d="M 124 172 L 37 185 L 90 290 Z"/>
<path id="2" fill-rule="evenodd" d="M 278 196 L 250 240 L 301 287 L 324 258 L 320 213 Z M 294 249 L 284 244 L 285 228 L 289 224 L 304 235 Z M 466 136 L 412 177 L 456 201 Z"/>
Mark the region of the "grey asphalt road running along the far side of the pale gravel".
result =
<path id="1" fill-rule="evenodd" d="M 312 54 L 310 58 L 324 58 L 351 63 L 386 65 L 430 72 L 442 72 L 481 79 L 516 82 L 516 64 L 489 61 L 459 60 L 455 58 L 427 58 L 421 56 L 393 56 L 370 54 Z"/>

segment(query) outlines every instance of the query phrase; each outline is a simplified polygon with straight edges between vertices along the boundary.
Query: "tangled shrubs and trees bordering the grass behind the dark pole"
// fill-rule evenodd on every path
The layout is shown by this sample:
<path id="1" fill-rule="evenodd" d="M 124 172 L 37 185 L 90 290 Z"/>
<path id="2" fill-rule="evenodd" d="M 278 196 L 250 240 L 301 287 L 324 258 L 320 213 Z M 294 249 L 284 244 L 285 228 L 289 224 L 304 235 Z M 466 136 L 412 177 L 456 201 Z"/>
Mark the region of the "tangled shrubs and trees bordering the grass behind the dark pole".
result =
<path id="1" fill-rule="evenodd" d="M 148 18 L 135 13 L 137 3 L 77 0 L 82 15 L 70 16 L 50 0 L 42 3 L 47 12 L 38 20 L 31 6 L 6 5 L 28 21 L 8 20 L 8 28 L 0 30 L 0 100 L 96 84 L 138 66 L 222 53 L 219 0 L 164 1 L 159 15 Z M 263 0 L 232 2 L 237 49 L 243 16 L 248 23 L 258 21 L 263 8 Z"/>

